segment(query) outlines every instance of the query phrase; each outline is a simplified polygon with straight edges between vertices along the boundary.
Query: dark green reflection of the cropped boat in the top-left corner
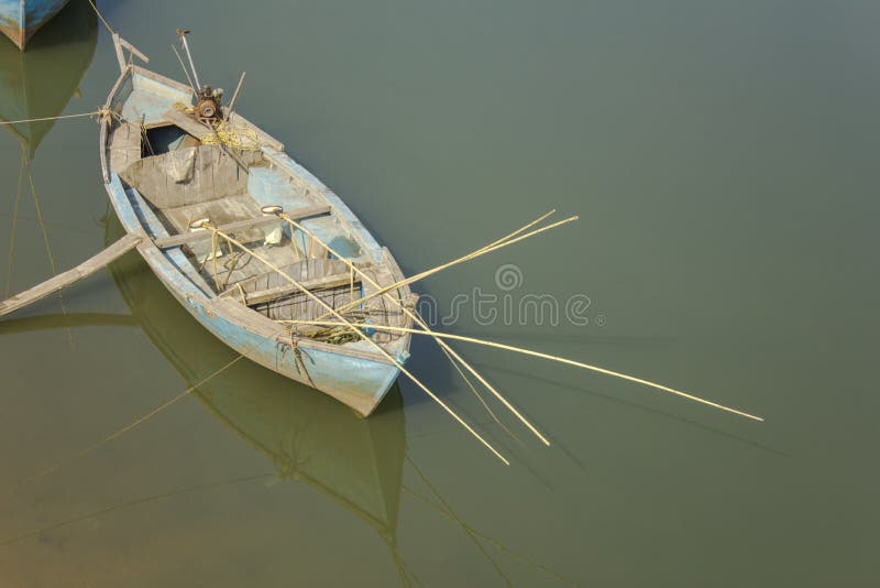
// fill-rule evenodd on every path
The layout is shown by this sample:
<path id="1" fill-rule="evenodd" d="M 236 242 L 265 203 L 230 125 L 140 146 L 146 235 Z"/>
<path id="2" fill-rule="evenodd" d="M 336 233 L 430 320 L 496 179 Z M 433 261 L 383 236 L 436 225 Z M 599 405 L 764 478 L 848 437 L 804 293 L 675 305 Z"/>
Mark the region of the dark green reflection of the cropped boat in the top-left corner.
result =
<path id="1" fill-rule="evenodd" d="M 22 53 L 0 39 L 0 120 L 53 118 L 70 98 L 91 65 L 98 42 L 98 20 L 88 2 L 76 1 L 47 23 Z M 33 159 L 40 142 L 55 124 L 43 120 L 3 127 L 21 141 Z"/>

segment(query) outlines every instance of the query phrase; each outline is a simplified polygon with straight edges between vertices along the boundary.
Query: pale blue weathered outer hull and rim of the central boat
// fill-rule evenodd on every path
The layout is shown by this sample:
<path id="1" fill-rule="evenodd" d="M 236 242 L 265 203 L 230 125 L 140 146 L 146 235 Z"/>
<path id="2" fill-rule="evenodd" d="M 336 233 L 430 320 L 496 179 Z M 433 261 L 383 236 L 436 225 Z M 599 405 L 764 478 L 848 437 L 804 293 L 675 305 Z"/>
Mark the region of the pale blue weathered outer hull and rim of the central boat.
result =
<path id="1" fill-rule="evenodd" d="M 106 106 L 124 116 L 129 106 L 128 97 L 135 92 L 141 92 L 138 95 L 141 98 L 138 116 L 146 124 L 161 119 L 162 112 L 166 111 L 173 100 L 183 97 L 188 99 L 189 96 L 186 86 L 129 66 L 111 90 Z M 163 92 L 169 95 L 167 104 L 162 104 Z M 175 96 L 175 92 L 179 95 Z M 144 95 L 150 96 L 143 98 Z M 156 247 L 154 239 L 167 237 L 168 233 L 143 196 L 133 187 L 123 185 L 119 175 L 113 173 L 112 149 L 108 143 L 108 133 L 111 132 L 113 131 L 107 126 L 102 126 L 101 163 L 110 202 L 125 231 L 145 237 L 138 250 L 174 297 L 205 328 L 241 355 L 292 380 L 320 390 L 351 406 L 362 416 L 370 415 L 397 379 L 399 364 L 408 358 L 409 337 L 400 337 L 398 344 L 388 349 L 392 360 L 376 353 L 369 345 L 360 345 L 365 341 L 346 345 L 329 345 L 310 339 L 295 341 L 267 329 L 265 325 L 254 325 L 253 313 L 244 305 L 230 304 L 228 298 L 218 300 L 206 292 L 204 284 L 197 285 L 200 284 L 200 279 L 198 274 L 194 274 L 191 261 L 180 248 Z M 279 149 L 263 149 L 273 168 L 296 174 L 299 181 L 307 184 L 311 194 L 320 195 L 322 202 L 329 205 L 336 221 L 348 227 L 358 239 L 360 248 L 366 251 L 365 255 L 392 268 L 394 275 L 391 277 L 395 281 L 403 279 L 387 249 L 378 246 L 345 204 L 287 156 L 283 152 L 283 145 L 268 135 L 265 139 L 271 145 L 279 145 Z M 408 288 L 406 292 L 408 293 Z"/>

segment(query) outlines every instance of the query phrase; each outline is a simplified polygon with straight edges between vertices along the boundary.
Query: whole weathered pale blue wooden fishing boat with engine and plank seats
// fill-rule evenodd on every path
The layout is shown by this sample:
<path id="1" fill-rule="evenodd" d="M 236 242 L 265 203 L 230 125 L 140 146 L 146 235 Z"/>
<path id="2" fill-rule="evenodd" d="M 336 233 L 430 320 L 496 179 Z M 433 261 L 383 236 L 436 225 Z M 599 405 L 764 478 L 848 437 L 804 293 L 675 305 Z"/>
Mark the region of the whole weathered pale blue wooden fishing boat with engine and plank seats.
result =
<path id="1" fill-rule="evenodd" d="M 394 257 L 280 142 L 219 100 L 213 112 L 206 111 L 196 99 L 216 96 L 210 89 L 197 92 L 132 64 L 123 51 L 140 54 L 116 41 L 121 75 L 105 106 L 112 115 L 101 126 L 100 160 L 110 202 L 125 232 L 140 239 L 138 251 L 179 303 L 235 351 L 371 414 L 409 356 L 409 336 L 371 334 L 380 352 L 369 340 L 324 340 L 289 322 L 326 315 L 312 296 L 338 308 L 403 280 Z M 224 134 L 205 123 L 206 115 L 226 119 Z M 279 210 L 306 231 L 292 230 Z M 222 239 L 202 230 L 206 224 L 234 236 L 253 254 L 224 248 Z M 392 294 L 415 305 L 408 287 Z M 411 326 L 411 318 L 382 296 L 358 313 L 376 325 Z"/>

